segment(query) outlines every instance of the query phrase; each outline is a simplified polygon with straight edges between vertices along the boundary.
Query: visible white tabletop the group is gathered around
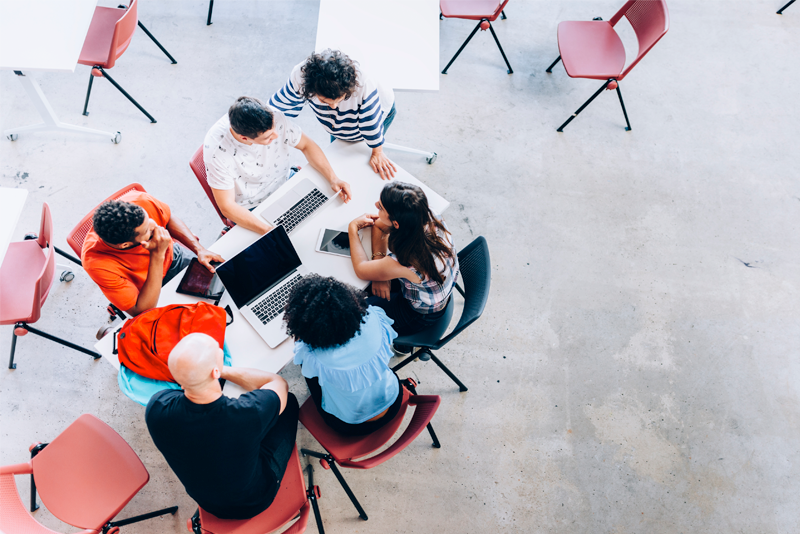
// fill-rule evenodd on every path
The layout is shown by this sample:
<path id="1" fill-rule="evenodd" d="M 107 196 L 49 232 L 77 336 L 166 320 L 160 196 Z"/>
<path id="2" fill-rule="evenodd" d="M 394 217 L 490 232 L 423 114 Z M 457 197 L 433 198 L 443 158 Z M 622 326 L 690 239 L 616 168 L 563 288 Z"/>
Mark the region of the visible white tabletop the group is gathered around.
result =
<path id="1" fill-rule="evenodd" d="M 336 175 L 350 184 L 353 199 L 348 204 L 344 204 L 337 197 L 333 200 L 334 205 L 325 207 L 321 213 L 316 214 L 290 236 L 300 260 L 309 271 L 324 276 L 333 276 L 342 282 L 362 288 L 367 286 L 367 282 L 360 280 L 356 276 L 350 258 L 322 254 L 317 252 L 315 248 L 320 229 L 347 230 L 350 221 L 359 215 L 365 212 L 377 213 L 375 202 L 378 200 L 381 189 L 383 189 L 386 182 L 381 180 L 373 172 L 372 167 L 369 166 L 369 158 L 367 157 L 369 153 L 369 147 L 363 142 L 345 143 L 336 141 L 325 148 L 325 155 L 336 171 Z M 450 205 L 444 198 L 399 166 L 397 170 L 398 173 L 394 179 L 420 186 L 425 191 L 433 211 L 442 213 Z M 303 178 L 310 178 L 320 189 L 330 191 L 328 183 L 322 175 L 312 169 L 310 165 L 306 165 L 291 180 L 270 195 L 263 204 L 254 210 L 254 213 L 261 213 L 268 205 L 275 202 Z M 176 210 L 175 213 L 180 211 L 178 206 L 173 206 L 173 210 Z M 209 212 L 209 217 L 212 215 L 213 212 Z M 211 245 L 209 249 L 217 252 L 227 260 L 247 248 L 259 237 L 254 232 L 236 226 L 219 241 Z M 371 254 L 370 237 L 370 232 L 368 230 L 364 231 L 362 242 L 364 243 L 364 248 L 367 249 L 368 255 Z M 192 303 L 201 300 L 175 292 L 181 278 L 183 278 L 183 274 L 179 274 L 162 288 L 161 296 L 158 300 L 159 306 Z M 250 326 L 250 323 L 236 310 L 228 293 L 225 293 L 219 305 L 223 307 L 230 305 L 233 310 L 234 321 L 225 332 L 225 342 L 232 355 L 232 364 L 234 366 L 254 367 L 277 373 L 291 361 L 294 355 L 291 339 L 287 339 L 276 348 L 271 349 Z M 119 360 L 112 350 L 114 337 L 112 334 L 107 335 L 95 345 L 95 349 L 118 368 Z M 225 392 L 229 395 L 231 393 L 235 395 L 241 393 L 241 389 L 235 384 L 229 384 L 225 386 Z"/>

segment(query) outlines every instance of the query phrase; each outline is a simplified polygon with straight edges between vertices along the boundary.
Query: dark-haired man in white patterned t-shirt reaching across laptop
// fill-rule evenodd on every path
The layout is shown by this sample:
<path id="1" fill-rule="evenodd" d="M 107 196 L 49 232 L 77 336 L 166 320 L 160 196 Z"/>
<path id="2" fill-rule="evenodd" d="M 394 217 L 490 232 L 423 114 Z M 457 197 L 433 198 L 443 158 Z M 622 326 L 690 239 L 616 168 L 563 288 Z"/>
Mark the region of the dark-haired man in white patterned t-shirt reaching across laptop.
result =
<path id="1" fill-rule="evenodd" d="M 289 179 L 294 148 L 334 192 L 341 191 L 342 200 L 350 201 L 350 185 L 336 176 L 328 158 L 299 126 L 258 99 L 242 96 L 203 142 L 206 179 L 222 214 L 248 230 L 269 232 L 272 225 L 250 210 Z"/>

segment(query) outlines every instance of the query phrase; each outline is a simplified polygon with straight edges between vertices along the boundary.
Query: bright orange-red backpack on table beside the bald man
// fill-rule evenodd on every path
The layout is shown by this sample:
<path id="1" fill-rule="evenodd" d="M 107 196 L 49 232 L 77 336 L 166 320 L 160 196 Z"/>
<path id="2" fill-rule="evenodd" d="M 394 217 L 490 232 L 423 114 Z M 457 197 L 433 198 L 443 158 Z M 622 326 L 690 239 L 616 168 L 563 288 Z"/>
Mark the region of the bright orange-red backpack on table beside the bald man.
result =
<path id="1" fill-rule="evenodd" d="M 201 332 L 213 337 L 222 348 L 225 327 L 230 324 L 226 323 L 227 313 L 230 313 L 229 307 L 223 309 L 207 302 L 147 310 L 120 329 L 114 338 L 114 353 L 118 354 L 121 364 L 138 375 L 175 382 L 167 365 L 175 345 L 184 336 Z"/>

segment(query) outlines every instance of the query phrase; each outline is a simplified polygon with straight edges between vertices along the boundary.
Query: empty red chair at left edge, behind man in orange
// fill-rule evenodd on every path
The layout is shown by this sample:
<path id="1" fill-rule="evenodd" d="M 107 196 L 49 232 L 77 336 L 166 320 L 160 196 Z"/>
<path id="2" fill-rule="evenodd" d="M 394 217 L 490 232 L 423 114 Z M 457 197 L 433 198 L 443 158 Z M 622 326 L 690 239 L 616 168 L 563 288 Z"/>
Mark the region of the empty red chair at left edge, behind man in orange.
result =
<path id="1" fill-rule="evenodd" d="M 50 206 L 45 202 L 42 205 L 38 237 L 9 244 L 3 265 L 0 266 L 0 325 L 14 325 L 9 369 L 17 368 L 14 363 L 17 337 L 28 332 L 88 354 L 95 360 L 101 357 L 94 351 L 42 332 L 29 324 L 42 316 L 42 306 L 55 279 L 56 257 L 51 245 L 52 237 L 53 219 Z"/>

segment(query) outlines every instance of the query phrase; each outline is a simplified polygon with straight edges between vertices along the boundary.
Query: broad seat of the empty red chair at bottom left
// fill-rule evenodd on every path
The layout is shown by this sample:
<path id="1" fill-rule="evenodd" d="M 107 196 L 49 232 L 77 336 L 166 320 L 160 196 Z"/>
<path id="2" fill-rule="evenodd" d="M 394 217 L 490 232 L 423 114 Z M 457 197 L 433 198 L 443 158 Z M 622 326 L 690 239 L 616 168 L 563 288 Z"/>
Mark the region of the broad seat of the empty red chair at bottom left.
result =
<path id="1" fill-rule="evenodd" d="M 99 530 L 150 479 L 125 440 L 90 414 L 69 425 L 31 465 L 47 509 L 84 529 Z"/>

